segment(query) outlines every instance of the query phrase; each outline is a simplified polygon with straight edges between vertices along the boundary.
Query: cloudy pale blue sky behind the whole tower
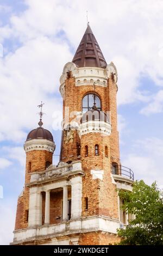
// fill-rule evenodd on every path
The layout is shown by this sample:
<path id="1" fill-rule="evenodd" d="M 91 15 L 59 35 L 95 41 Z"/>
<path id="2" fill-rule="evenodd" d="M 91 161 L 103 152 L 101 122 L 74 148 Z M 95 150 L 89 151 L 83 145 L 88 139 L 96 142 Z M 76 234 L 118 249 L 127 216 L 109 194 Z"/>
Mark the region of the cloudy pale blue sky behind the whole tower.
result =
<path id="1" fill-rule="evenodd" d="M 163 187 L 163 1 L 0 0 L 0 244 L 13 239 L 24 185 L 24 141 L 43 127 L 60 152 L 59 78 L 86 29 L 118 72 L 118 130 L 123 166 Z"/>

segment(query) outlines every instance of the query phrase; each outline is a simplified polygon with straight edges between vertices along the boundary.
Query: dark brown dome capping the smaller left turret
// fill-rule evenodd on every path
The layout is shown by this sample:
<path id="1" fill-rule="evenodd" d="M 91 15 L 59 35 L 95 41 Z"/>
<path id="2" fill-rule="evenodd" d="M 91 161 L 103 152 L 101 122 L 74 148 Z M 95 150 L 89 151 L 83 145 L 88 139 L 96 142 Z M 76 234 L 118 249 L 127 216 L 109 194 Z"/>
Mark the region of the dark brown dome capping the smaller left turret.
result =
<path id="1" fill-rule="evenodd" d="M 30 139 L 48 139 L 49 141 L 53 141 L 53 135 L 43 127 L 38 127 L 28 133 L 27 141 Z"/>

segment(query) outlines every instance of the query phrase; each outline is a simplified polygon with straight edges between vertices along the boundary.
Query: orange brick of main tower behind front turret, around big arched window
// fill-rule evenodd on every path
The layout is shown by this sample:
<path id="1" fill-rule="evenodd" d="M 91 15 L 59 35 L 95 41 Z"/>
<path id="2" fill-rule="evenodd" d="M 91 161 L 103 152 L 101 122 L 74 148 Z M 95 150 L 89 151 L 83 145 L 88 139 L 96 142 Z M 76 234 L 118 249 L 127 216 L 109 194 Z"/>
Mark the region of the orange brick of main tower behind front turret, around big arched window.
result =
<path id="1" fill-rule="evenodd" d="M 96 94 L 101 99 L 102 111 L 112 111 L 111 120 L 113 120 L 112 128 L 115 130 L 115 136 L 118 136 L 116 131 L 117 112 L 116 112 L 116 86 L 112 80 L 108 80 L 108 87 L 96 86 Z M 65 107 L 69 108 L 70 121 L 76 118 L 75 112 L 82 111 L 82 99 L 87 93 L 94 93 L 94 86 L 76 86 L 74 77 L 67 78 L 65 81 L 65 97 L 63 101 L 63 118 L 65 118 Z M 109 100 L 111 98 L 111 101 Z M 112 102 L 114 102 L 112 107 Z M 73 161 L 77 159 L 77 143 L 80 143 L 77 131 L 74 131 L 74 139 L 65 143 L 65 131 L 61 142 L 61 160 L 64 162 Z M 114 136 L 113 136 L 114 137 Z M 118 151 L 118 137 L 115 139 L 117 153 Z M 113 148 L 115 148 L 113 146 Z"/>

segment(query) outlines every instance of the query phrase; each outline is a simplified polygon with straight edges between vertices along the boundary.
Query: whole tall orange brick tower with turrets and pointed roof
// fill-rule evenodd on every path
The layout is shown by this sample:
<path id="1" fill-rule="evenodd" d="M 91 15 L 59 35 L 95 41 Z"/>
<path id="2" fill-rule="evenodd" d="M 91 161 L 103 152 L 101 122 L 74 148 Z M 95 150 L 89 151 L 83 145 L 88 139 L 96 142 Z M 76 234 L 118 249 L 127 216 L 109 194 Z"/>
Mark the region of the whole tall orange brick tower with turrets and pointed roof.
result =
<path id="1" fill-rule="evenodd" d="M 42 127 L 29 133 L 26 187 L 18 198 L 12 244 L 114 244 L 120 240 L 116 229 L 131 217 L 120 209 L 116 188 L 131 191 L 134 174 L 120 162 L 117 70 L 106 64 L 89 25 L 64 66 L 60 93 L 60 162 L 52 164 L 51 133 L 43 130 L 46 138 L 40 138 Z"/>

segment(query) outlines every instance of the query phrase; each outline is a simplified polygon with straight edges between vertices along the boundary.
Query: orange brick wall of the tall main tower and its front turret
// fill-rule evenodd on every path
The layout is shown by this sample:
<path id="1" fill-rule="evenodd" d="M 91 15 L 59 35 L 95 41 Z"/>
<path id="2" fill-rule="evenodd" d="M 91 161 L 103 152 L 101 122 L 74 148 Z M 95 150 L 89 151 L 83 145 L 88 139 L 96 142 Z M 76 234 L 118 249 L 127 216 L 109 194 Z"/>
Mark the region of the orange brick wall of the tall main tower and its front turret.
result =
<path id="1" fill-rule="evenodd" d="M 62 140 L 61 159 L 64 162 L 77 159 L 77 142 L 80 142 L 83 177 L 83 216 L 105 215 L 118 218 L 118 203 L 116 185 L 111 180 L 111 163 L 120 164 L 119 141 L 117 132 L 117 88 L 114 79 L 108 79 L 108 86 L 95 87 L 96 94 L 101 99 L 102 111 L 111 112 L 111 136 L 100 133 L 88 133 L 82 136 L 81 141 L 76 131 L 71 143 Z M 93 85 L 76 86 L 74 77 L 65 82 L 64 107 L 69 107 L 69 113 L 82 111 L 82 99 L 87 93 L 93 93 Z M 63 110 L 64 118 L 65 111 Z M 74 115 L 75 117 L 75 115 Z M 70 117 L 70 121 L 74 118 Z M 95 156 L 95 144 L 99 145 L 99 156 Z M 85 145 L 89 147 L 89 155 L 85 157 Z M 105 156 L 105 145 L 108 147 L 108 157 Z M 73 157 L 72 157 L 73 155 Z M 103 169 L 103 180 L 92 180 L 91 169 Z M 85 210 L 85 198 L 88 198 L 89 209 Z"/>

